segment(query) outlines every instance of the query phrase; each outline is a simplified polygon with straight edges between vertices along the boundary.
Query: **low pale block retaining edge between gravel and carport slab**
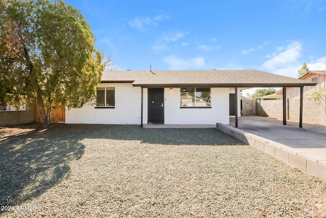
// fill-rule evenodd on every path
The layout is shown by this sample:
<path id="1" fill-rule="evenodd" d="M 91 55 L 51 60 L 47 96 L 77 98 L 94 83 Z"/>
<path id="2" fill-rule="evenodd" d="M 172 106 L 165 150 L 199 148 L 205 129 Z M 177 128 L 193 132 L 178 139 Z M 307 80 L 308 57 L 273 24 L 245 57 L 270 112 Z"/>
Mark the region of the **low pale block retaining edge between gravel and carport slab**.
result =
<path id="1" fill-rule="evenodd" d="M 284 163 L 292 165 L 305 173 L 326 181 L 326 161 L 315 159 L 300 149 L 293 149 L 282 143 L 257 136 L 230 125 L 216 123 L 216 129 L 282 160 Z"/>

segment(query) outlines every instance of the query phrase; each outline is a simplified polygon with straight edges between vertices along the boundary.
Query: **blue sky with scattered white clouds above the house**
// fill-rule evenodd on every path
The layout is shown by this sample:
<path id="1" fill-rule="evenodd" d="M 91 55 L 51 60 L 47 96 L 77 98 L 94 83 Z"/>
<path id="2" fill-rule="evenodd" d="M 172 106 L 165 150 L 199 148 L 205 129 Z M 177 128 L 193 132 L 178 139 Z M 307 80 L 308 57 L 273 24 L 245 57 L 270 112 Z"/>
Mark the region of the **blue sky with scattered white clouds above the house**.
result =
<path id="1" fill-rule="evenodd" d="M 326 69 L 326 1 L 68 0 L 119 70 Z"/>

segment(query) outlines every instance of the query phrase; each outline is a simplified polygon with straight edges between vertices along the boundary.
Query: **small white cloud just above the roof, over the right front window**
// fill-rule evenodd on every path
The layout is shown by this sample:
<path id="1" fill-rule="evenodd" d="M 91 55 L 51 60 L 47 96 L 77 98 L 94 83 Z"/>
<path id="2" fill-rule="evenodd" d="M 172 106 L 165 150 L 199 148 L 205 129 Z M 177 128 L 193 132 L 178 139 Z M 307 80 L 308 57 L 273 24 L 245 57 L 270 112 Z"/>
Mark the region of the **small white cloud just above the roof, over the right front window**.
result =
<path id="1" fill-rule="evenodd" d="M 164 63 L 173 70 L 198 69 L 205 66 L 205 59 L 203 57 L 183 59 L 171 55 L 164 58 Z"/>

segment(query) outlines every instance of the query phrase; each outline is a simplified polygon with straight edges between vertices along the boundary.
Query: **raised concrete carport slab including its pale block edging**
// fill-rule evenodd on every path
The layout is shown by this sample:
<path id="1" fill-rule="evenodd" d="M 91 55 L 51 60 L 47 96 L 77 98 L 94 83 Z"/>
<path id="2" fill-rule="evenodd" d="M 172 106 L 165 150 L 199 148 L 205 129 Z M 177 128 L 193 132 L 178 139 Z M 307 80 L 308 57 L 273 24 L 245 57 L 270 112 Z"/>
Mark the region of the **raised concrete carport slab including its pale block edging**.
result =
<path id="1" fill-rule="evenodd" d="M 326 181 L 326 127 L 260 117 L 242 116 L 238 118 L 238 128 L 216 124 L 221 131 L 228 133 L 251 146 L 270 154 L 283 162 L 300 168 Z"/>

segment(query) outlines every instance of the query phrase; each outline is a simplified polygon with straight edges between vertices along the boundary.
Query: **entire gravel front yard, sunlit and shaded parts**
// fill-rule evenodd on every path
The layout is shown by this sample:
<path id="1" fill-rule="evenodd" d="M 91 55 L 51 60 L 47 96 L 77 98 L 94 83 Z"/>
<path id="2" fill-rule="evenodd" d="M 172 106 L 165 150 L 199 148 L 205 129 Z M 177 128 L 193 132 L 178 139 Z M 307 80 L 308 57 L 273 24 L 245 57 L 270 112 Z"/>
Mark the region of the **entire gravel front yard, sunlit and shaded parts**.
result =
<path id="1" fill-rule="evenodd" d="M 326 217 L 325 182 L 216 129 L 21 125 L 0 158 L 0 217 Z"/>

